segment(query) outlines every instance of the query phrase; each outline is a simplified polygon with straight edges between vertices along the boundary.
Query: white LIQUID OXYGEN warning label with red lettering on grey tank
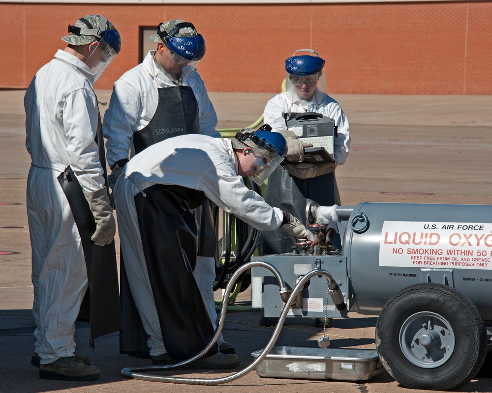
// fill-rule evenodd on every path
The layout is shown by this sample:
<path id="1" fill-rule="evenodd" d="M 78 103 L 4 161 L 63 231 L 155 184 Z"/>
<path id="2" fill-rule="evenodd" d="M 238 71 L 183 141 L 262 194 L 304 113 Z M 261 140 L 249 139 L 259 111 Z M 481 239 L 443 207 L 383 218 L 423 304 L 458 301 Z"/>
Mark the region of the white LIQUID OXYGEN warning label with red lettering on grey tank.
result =
<path id="1" fill-rule="evenodd" d="M 492 270 L 492 224 L 385 221 L 379 266 Z"/>

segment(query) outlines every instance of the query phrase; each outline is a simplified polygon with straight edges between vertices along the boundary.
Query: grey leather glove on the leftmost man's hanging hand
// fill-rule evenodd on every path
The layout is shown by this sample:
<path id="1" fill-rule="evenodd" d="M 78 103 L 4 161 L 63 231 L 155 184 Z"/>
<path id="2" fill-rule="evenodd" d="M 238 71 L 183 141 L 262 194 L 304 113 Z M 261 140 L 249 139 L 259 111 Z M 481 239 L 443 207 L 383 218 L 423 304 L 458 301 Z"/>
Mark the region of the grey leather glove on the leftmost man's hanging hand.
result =
<path id="1" fill-rule="evenodd" d="M 84 196 L 89 203 L 96 225 L 91 240 L 96 246 L 110 244 L 116 234 L 116 221 L 109 204 L 107 188 L 103 187 L 92 193 L 84 191 Z"/>

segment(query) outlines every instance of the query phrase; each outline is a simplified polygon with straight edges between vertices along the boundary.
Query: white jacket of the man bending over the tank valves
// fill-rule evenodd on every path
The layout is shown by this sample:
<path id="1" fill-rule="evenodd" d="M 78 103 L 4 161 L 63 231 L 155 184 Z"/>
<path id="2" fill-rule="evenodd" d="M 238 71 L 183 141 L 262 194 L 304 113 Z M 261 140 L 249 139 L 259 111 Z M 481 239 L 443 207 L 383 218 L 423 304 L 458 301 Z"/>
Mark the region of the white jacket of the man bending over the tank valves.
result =
<path id="1" fill-rule="evenodd" d="M 117 210 L 121 212 L 121 198 L 133 200 L 136 194 L 155 184 L 203 191 L 218 207 L 258 230 L 275 230 L 283 220 L 280 209 L 270 206 L 244 185 L 228 139 L 182 135 L 147 147 L 126 164 L 124 176 L 115 186 Z M 123 187 L 125 195 L 120 194 Z"/>

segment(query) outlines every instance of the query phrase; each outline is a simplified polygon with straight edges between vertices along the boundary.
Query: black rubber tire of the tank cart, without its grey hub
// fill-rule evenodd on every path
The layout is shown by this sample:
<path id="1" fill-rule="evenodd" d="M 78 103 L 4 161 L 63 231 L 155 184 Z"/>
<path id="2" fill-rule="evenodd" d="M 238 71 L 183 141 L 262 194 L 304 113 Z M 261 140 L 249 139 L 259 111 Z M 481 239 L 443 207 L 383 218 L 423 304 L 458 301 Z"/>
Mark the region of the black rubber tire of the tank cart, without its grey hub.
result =
<path id="1" fill-rule="evenodd" d="M 424 368 L 410 362 L 400 347 L 400 329 L 407 318 L 419 312 L 438 314 L 449 322 L 454 350 L 441 365 Z M 394 295 L 376 324 L 376 348 L 386 371 L 410 389 L 449 391 L 469 382 L 487 355 L 487 332 L 475 305 L 447 285 L 422 283 Z"/>

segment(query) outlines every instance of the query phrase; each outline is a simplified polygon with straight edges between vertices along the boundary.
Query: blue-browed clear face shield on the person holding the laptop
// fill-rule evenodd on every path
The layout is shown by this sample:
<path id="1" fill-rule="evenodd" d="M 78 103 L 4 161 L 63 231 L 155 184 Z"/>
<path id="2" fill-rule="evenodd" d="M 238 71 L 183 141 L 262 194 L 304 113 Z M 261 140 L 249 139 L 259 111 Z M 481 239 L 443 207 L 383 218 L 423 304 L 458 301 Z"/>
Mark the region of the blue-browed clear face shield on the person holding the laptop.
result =
<path id="1" fill-rule="evenodd" d="M 300 49 L 285 60 L 285 90 L 294 102 L 311 101 L 316 90 L 326 93 L 324 65 L 325 60 L 312 49 Z"/>

